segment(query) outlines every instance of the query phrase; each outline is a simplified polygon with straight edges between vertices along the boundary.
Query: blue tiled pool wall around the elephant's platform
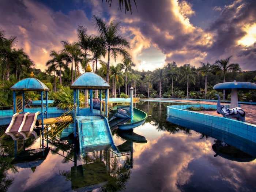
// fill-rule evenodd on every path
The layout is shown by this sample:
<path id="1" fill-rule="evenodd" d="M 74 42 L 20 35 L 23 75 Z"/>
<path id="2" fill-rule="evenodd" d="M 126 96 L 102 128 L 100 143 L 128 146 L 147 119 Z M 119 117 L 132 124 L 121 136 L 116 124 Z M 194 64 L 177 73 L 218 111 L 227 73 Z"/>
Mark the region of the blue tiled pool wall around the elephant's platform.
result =
<path id="1" fill-rule="evenodd" d="M 192 121 L 201 125 L 207 125 L 224 132 L 229 132 L 242 138 L 256 142 L 256 125 L 237 121 L 230 118 L 212 116 L 199 112 L 186 110 L 188 107 L 203 107 L 206 109 L 216 109 L 215 105 L 172 105 L 167 106 L 167 115 L 184 120 Z"/>

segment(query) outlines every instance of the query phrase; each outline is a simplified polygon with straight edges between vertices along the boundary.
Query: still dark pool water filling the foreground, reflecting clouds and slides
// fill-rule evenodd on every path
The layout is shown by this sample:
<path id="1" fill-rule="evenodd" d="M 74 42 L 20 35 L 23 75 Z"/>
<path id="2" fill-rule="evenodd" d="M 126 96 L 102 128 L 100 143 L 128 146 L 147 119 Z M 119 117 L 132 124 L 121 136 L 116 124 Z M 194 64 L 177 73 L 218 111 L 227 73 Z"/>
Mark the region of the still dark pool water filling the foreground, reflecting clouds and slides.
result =
<path id="1" fill-rule="evenodd" d="M 69 139 L 50 141 L 45 159 L 12 162 L 13 141 L 2 141 L 0 191 L 256 191 L 256 144 L 172 124 L 171 104 L 136 103 L 149 117 L 133 133 L 113 131 L 120 157 L 111 149 L 81 157 Z M 26 151 L 35 148 L 40 139 L 27 140 Z"/>

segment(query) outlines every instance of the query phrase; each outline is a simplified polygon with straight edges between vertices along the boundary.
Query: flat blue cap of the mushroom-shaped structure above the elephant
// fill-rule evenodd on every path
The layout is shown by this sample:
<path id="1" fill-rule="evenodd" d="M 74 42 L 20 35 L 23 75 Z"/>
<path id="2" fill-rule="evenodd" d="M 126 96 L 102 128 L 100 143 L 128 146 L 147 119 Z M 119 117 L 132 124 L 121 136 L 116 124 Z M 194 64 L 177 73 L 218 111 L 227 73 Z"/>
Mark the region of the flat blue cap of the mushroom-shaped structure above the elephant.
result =
<path id="1" fill-rule="evenodd" d="M 255 83 L 250 82 L 226 82 L 215 84 L 213 89 L 222 90 L 222 89 L 256 89 Z"/>

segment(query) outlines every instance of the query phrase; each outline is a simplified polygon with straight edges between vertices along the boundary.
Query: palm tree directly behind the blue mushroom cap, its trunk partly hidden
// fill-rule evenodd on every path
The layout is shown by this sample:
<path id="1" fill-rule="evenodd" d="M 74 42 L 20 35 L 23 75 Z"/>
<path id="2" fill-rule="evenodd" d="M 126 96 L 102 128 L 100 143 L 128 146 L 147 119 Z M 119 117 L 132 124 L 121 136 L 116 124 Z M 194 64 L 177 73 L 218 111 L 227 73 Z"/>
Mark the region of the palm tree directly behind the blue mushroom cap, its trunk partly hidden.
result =
<path id="1" fill-rule="evenodd" d="M 241 71 L 239 64 L 236 63 L 229 63 L 230 59 L 232 56 L 227 57 L 227 59 L 218 59 L 215 61 L 215 69 L 217 69 L 218 71 L 222 71 L 223 72 L 223 83 L 226 82 L 226 74 L 230 71 L 236 71 L 239 72 Z M 226 98 L 226 90 L 223 90 L 223 100 L 225 100 Z"/>

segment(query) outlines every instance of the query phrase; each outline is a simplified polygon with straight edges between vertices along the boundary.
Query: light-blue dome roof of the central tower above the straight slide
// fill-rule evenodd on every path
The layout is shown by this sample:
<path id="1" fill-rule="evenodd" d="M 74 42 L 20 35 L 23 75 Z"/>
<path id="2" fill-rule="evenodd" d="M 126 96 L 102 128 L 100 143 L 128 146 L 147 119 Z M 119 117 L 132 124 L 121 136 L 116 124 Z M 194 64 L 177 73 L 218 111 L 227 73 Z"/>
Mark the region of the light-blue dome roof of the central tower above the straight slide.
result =
<path id="1" fill-rule="evenodd" d="M 75 80 L 70 89 L 110 89 L 110 86 L 101 76 L 85 72 Z"/>

